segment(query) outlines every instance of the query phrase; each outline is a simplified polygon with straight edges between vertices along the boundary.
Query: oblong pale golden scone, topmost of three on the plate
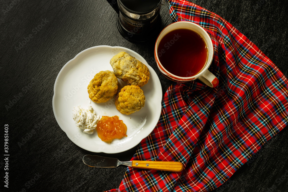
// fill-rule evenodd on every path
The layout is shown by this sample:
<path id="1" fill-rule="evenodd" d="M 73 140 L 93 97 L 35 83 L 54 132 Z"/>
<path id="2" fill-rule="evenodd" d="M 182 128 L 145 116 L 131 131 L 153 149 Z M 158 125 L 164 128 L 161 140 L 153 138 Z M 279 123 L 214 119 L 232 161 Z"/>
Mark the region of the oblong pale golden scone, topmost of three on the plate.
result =
<path id="1" fill-rule="evenodd" d="M 116 77 L 131 85 L 142 87 L 149 80 L 148 67 L 126 52 L 113 56 L 110 64 Z"/>

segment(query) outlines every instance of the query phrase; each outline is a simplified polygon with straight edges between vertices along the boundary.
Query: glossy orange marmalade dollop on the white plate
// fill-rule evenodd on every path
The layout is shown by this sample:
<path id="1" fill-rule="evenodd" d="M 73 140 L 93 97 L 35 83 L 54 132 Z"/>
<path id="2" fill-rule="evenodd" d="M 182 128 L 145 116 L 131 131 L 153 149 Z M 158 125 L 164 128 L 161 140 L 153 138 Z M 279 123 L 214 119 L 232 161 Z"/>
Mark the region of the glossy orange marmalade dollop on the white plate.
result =
<path id="1" fill-rule="evenodd" d="M 119 120 L 117 115 L 113 117 L 102 116 L 97 123 L 98 137 L 102 141 L 111 142 L 113 139 L 127 137 L 127 126 L 122 120 Z"/>

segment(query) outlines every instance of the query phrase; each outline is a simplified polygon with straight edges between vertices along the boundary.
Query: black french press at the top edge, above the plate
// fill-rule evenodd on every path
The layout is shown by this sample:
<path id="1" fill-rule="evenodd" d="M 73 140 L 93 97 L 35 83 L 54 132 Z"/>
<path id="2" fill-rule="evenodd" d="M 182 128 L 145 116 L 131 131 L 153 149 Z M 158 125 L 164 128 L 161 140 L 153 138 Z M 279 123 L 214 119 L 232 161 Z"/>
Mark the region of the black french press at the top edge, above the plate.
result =
<path id="1" fill-rule="evenodd" d="M 121 35 L 133 42 L 154 37 L 161 26 L 160 7 L 164 0 L 107 0 L 118 13 L 117 27 Z"/>

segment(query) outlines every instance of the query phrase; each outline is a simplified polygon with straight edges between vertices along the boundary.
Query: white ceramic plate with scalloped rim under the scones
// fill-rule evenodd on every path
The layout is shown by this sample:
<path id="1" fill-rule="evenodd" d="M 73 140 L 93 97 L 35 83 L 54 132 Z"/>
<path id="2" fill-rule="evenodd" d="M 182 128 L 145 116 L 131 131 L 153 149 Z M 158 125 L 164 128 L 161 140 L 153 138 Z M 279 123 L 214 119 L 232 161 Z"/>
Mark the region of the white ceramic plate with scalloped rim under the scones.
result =
<path id="1" fill-rule="evenodd" d="M 93 102 L 87 91 L 87 86 L 96 73 L 113 71 L 109 61 L 122 51 L 143 62 L 150 71 L 148 83 L 141 88 L 146 98 L 145 106 L 131 115 L 121 114 L 115 107 L 114 99 L 105 103 Z M 118 90 L 125 85 L 126 82 L 118 79 Z M 162 88 L 159 78 L 142 56 L 124 47 L 101 45 L 80 52 L 63 66 L 56 78 L 52 104 L 60 128 L 76 145 L 92 152 L 120 153 L 135 147 L 152 132 L 160 117 L 161 100 Z M 72 109 L 78 105 L 86 109 L 91 105 L 97 115 L 118 115 L 127 126 L 127 137 L 114 139 L 110 144 L 98 137 L 96 129 L 91 135 L 82 132 L 72 118 Z"/>

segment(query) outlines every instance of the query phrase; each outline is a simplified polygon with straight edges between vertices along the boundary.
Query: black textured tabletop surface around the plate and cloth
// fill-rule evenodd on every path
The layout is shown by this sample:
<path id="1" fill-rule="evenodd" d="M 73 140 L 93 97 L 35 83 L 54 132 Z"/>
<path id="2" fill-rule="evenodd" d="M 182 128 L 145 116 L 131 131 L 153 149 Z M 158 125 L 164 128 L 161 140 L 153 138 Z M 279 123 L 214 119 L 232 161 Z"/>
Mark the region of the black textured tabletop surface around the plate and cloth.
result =
<path id="1" fill-rule="evenodd" d="M 288 76 L 287 1 L 191 2 L 236 26 Z M 164 28 L 172 22 L 167 2 L 160 14 Z M 69 140 L 52 111 L 53 87 L 60 69 L 77 53 L 96 45 L 134 50 L 157 72 L 163 92 L 171 84 L 156 68 L 155 39 L 139 44 L 126 41 L 118 33 L 116 16 L 105 0 L 0 1 L 0 143 L 3 146 L 4 124 L 9 124 L 10 154 L 9 189 L 3 187 L 5 161 L 0 158 L 0 191 L 105 191 L 119 186 L 126 167 L 97 169 L 84 165 L 83 155 L 91 153 Z M 35 31 L 41 23 L 41 29 Z M 17 48 L 25 38 L 29 39 L 26 45 Z M 6 109 L 12 100 L 13 106 Z M 29 140 L 19 146 L 28 135 Z M 215 191 L 288 191 L 287 139 L 284 129 Z M 128 161 L 135 151 L 136 147 L 100 155 Z M 34 177 L 37 180 L 30 185 Z"/>

